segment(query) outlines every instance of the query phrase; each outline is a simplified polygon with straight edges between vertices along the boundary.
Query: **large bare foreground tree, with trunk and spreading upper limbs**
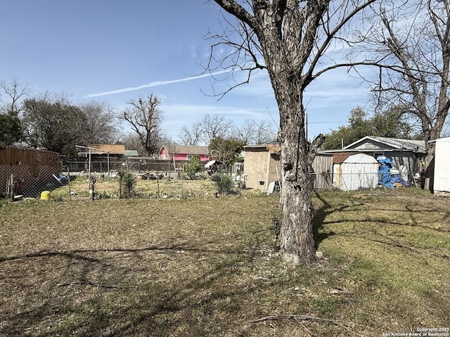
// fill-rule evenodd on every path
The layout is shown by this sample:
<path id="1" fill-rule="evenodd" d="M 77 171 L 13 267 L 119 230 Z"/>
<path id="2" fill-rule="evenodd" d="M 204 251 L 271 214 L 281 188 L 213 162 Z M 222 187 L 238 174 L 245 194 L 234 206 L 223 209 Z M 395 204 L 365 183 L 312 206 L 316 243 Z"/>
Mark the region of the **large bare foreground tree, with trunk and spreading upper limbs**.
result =
<path id="1" fill-rule="evenodd" d="M 233 61 L 229 67 L 248 70 L 249 77 L 259 69 L 269 74 L 280 114 L 281 256 L 294 265 L 311 263 L 316 252 L 309 167 L 323 136 L 307 141 L 304 91 L 323 72 L 340 66 L 323 56 L 331 55 L 334 43 L 343 46 L 345 26 L 375 0 L 214 1 L 238 19 L 237 39 L 224 32 L 214 45 L 235 48 L 220 62 Z"/>

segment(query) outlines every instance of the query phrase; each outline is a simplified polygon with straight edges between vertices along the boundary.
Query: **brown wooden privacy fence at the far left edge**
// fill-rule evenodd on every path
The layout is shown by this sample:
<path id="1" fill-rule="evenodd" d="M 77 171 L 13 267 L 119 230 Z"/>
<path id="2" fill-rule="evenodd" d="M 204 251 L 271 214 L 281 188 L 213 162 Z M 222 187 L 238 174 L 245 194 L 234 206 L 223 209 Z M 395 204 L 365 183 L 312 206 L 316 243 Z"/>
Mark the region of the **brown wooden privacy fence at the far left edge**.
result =
<path id="1" fill-rule="evenodd" d="M 0 194 L 37 197 L 58 184 L 60 154 L 25 147 L 0 147 Z"/>

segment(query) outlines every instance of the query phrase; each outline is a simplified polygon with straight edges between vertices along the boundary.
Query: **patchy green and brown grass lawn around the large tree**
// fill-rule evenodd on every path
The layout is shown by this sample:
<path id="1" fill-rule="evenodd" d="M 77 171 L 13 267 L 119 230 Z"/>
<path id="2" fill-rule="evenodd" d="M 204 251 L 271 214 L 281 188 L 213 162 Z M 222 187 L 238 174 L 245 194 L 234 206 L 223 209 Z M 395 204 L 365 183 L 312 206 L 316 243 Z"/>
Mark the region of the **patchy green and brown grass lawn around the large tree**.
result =
<path id="1" fill-rule="evenodd" d="M 0 335 L 448 328 L 449 206 L 414 189 L 320 192 L 314 231 L 326 259 L 292 268 L 271 250 L 276 197 L 1 204 Z"/>

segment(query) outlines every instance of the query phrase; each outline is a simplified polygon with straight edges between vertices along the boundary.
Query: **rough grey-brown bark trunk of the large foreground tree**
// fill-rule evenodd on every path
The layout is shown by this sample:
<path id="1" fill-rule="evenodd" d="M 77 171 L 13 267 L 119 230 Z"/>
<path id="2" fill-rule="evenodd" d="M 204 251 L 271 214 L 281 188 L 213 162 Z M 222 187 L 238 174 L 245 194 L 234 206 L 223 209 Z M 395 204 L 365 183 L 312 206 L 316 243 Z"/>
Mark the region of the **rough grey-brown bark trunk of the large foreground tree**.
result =
<path id="1" fill-rule="evenodd" d="M 278 27 L 279 18 L 271 8 L 256 11 L 260 29 L 255 29 L 262 46 L 267 71 L 271 79 L 280 114 L 278 143 L 281 148 L 281 256 L 291 265 L 315 261 L 316 251 L 312 234 L 311 183 L 309 181 L 309 146 L 305 132 L 303 91 L 309 79 L 299 72 L 304 66 L 308 48 L 298 47 L 302 41 L 297 25 L 298 4 L 288 1 L 291 8 L 286 15 L 285 39 Z M 317 15 L 321 15 L 318 11 Z M 314 20 L 313 20 L 314 21 Z M 271 29 L 268 29 L 271 27 Z M 286 37 L 289 37 L 287 39 Z M 304 44 L 304 40 L 302 41 Z M 295 52 L 293 52 L 295 50 Z"/>

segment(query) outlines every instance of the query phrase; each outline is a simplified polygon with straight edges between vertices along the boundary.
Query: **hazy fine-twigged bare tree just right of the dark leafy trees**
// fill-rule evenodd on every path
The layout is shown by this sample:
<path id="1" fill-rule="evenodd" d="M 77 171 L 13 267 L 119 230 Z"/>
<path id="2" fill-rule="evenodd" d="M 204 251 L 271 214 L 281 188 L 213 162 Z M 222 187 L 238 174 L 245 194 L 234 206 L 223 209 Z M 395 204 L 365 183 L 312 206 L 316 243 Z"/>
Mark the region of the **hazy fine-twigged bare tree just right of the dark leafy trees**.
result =
<path id="1" fill-rule="evenodd" d="M 107 103 L 91 101 L 79 105 L 86 116 L 86 144 L 114 144 L 119 138 L 115 111 Z"/>

